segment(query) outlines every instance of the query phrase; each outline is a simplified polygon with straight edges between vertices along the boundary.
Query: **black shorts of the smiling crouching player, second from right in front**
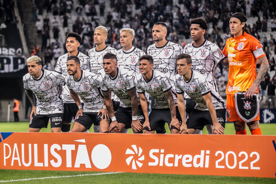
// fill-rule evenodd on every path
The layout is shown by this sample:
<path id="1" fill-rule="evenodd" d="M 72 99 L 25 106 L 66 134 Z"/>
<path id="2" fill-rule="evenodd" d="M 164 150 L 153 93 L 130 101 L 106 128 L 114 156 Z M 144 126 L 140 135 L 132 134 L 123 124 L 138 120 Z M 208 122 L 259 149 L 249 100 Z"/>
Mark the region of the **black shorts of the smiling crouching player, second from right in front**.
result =
<path id="1" fill-rule="evenodd" d="M 178 107 L 176 108 L 176 118 L 178 119 L 179 123 L 181 124 L 181 116 L 178 111 Z M 148 120 L 150 122 L 150 130 L 148 127 L 145 127 L 144 130 L 146 131 L 162 131 L 164 129 L 165 123 L 169 124 L 172 121 L 172 115 L 170 108 L 166 109 L 152 109 L 150 115 L 148 116 Z M 175 126 L 171 126 L 171 129 L 177 129 Z M 178 130 L 178 129 L 177 129 Z"/>

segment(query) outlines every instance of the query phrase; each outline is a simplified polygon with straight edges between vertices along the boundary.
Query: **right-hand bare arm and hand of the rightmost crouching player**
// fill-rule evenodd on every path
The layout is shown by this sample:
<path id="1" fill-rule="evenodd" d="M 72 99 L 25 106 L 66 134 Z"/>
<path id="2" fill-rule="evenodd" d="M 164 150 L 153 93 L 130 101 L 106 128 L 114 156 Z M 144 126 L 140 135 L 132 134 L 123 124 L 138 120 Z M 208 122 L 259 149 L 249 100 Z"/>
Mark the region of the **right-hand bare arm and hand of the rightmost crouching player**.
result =
<path id="1" fill-rule="evenodd" d="M 211 118 L 212 118 L 212 121 L 213 121 L 213 133 L 214 134 L 224 134 L 224 128 L 218 122 L 218 119 L 216 117 L 216 110 L 215 110 L 214 104 L 213 104 L 212 99 L 211 99 L 211 94 L 208 93 L 208 94 L 205 94 L 202 97 L 205 100 L 205 102 L 207 104 L 207 108 L 208 108 L 208 110 L 211 114 Z"/>

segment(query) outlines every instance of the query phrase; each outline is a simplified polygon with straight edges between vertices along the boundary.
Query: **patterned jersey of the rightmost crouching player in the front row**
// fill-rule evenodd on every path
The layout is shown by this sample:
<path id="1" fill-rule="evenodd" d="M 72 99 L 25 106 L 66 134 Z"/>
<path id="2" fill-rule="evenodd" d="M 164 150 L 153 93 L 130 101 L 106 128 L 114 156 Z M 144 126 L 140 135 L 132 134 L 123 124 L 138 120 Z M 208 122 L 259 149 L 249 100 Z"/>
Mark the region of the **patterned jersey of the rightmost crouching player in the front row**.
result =
<path id="1" fill-rule="evenodd" d="M 185 92 L 194 102 L 197 103 L 196 107 L 194 107 L 195 109 L 208 110 L 207 104 L 203 99 L 203 96 L 208 93 L 211 93 L 215 109 L 225 109 L 222 97 L 218 92 L 216 92 L 216 90 L 210 88 L 210 83 L 199 72 L 192 70 L 192 77 L 188 82 L 184 80 L 182 75 L 177 74 L 174 83 L 178 94 L 183 94 Z"/>

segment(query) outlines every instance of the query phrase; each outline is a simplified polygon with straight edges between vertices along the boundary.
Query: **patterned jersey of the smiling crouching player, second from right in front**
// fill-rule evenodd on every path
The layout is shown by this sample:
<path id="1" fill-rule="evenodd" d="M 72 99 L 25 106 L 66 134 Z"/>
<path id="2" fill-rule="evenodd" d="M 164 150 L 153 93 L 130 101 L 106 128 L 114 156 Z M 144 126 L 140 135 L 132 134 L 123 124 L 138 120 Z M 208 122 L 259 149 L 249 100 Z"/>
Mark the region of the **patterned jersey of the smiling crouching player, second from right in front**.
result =
<path id="1" fill-rule="evenodd" d="M 169 101 L 165 96 L 165 92 L 169 91 L 172 85 L 164 73 L 153 70 L 151 79 L 148 82 L 145 81 L 143 74 L 139 74 L 135 77 L 135 84 L 138 93 L 147 92 L 155 99 L 153 108 L 169 108 Z"/>

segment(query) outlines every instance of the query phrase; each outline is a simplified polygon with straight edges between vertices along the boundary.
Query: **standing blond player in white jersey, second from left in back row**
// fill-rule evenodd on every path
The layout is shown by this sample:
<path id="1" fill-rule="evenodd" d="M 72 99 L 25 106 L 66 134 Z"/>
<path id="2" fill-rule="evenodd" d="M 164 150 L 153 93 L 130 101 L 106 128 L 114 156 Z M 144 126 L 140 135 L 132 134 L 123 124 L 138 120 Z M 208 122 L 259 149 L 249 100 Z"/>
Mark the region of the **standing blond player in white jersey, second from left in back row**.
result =
<path id="1" fill-rule="evenodd" d="M 104 73 L 103 56 L 106 53 L 115 54 L 116 49 L 105 45 L 107 29 L 104 26 L 96 27 L 93 38 L 96 47 L 89 50 L 89 65 L 87 65 L 87 67 L 92 73 L 96 73 L 100 76 Z"/>

